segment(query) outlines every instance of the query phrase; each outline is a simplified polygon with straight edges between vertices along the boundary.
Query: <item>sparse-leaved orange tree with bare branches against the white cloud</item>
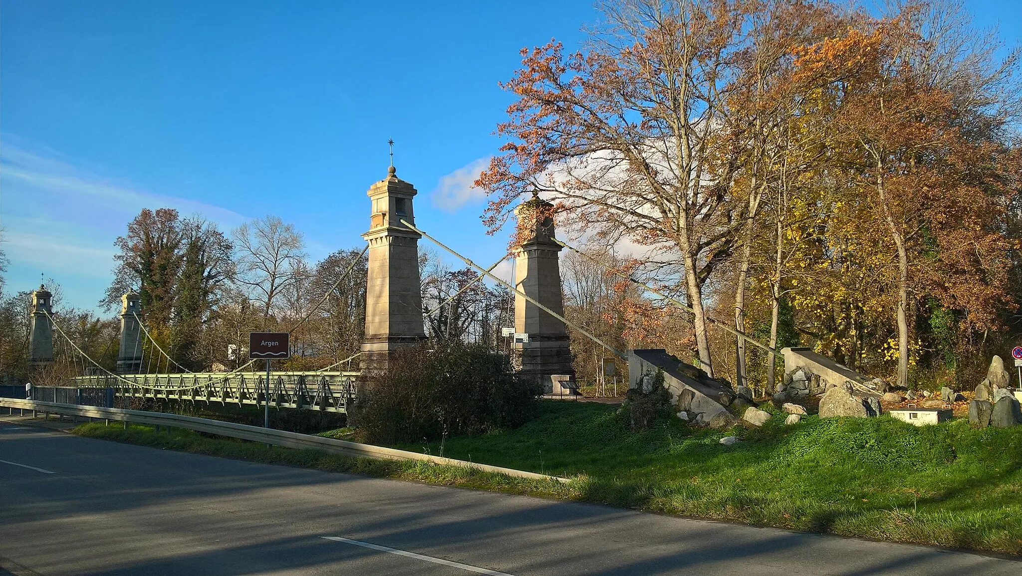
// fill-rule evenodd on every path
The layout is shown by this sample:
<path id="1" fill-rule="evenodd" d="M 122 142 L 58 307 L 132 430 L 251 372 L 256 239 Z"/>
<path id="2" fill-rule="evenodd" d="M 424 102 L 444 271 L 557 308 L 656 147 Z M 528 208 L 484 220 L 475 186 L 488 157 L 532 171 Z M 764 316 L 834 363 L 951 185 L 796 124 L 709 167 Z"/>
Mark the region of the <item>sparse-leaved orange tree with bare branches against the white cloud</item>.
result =
<path id="1" fill-rule="evenodd" d="M 560 226 L 639 245 L 654 276 L 694 310 L 700 366 L 713 373 L 706 284 L 757 209 L 735 183 L 749 131 L 729 102 L 749 86 L 761 18 L 793 2 L 632 0 L 604 6 L 587 52 L 522 50 L 504 85 L 517 96 L 498 127 L 509 142 L 476 184 L 484 222 L 501 227 L 529 191 L 556 202 Z"/>

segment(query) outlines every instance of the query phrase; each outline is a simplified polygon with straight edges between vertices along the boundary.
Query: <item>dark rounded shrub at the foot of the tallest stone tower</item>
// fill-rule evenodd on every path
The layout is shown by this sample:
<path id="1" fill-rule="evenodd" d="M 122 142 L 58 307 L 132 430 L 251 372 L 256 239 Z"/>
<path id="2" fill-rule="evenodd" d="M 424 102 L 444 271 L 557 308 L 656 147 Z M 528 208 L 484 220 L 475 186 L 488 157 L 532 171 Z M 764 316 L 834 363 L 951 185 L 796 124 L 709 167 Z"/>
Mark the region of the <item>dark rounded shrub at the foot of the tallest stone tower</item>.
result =
<path id="1" fill-rule="evenodd" d="M 479 344 L 401 350 L 368 382 L 352 414 L 357 437 L 374 444 L 418 442 L 521 426 L 536 414 L 539 382 L 519 378 L 508 357 Z"/>

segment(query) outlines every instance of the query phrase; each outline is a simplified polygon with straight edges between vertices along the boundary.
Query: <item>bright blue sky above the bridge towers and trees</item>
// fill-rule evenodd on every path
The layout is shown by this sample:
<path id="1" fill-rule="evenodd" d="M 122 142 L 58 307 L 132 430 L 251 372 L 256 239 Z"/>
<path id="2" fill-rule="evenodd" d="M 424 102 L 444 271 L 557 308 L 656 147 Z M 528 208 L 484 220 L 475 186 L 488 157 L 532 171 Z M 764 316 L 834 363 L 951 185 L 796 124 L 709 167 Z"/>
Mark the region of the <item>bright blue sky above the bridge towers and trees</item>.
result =
<path id="1" fill-rule="evenodd" d="M 1020 41 L 1017 1 L 967 6 Z M 596 18 L 590 0 L 0 0 L 7 290 L 43 273 L 95 307 L 143 207 L 225 231 L 277 214 L 313 259 L 361 246 L 388 138 L 418 224 L 489 265 L 506 237 L 484 235 L 469 185 L 500 145 L 498 82 Z"/>

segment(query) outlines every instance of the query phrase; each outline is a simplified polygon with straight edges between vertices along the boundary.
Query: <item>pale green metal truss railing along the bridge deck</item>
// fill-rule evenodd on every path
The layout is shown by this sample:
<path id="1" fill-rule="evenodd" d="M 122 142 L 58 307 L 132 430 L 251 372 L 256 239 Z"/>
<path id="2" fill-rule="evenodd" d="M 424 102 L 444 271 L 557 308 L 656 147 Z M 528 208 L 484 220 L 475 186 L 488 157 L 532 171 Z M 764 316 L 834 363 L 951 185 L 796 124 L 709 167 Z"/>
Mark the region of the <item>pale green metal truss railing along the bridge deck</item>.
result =
<path id="1" fill-rule="evenodd" d="M 270 379 L 270 405 L 346 413 L 361 376 L 360 372 L 275 372 Z M 111 388 L 118 397 L 225 404 L 263 405 L 266 395 L 266 375 L 260 372 L 79 376 L 71 384 L 74 388 Z"/>

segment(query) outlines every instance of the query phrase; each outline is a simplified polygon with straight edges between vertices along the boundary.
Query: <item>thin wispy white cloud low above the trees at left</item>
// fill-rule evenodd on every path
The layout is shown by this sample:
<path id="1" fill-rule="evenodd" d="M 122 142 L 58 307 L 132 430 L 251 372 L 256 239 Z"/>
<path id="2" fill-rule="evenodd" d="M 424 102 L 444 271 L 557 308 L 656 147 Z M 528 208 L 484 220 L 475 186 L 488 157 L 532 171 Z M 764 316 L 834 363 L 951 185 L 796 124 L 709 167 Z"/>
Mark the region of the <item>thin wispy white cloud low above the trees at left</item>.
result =
<path id="1" fill-rule="evenodd" d="M 10 289 L 28 289 L 45 273 L 63 284 L 68 303 L 92 307 L 110 281 L 114 239 L 142 208 L 201 213 L 225 231 L 247 220 L 221 206 L 101 176 L 10 135 L 2 141 L 0 225 Z"/>

